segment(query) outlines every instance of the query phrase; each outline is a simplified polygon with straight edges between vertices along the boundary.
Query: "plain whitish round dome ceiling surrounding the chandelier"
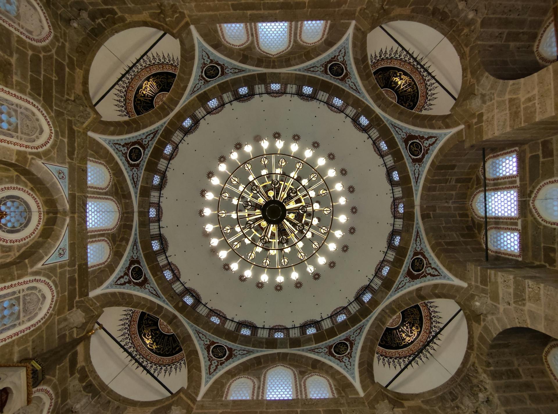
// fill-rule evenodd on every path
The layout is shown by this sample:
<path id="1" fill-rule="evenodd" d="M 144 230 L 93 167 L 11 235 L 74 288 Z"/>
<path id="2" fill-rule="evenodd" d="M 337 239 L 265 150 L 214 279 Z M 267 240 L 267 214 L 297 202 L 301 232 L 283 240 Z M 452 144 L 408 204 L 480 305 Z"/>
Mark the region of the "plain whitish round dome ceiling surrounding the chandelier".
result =
<path id="1" fill-rule="evenodd" d="M 200 121 L 195 133 L 181 142 L 167 171 L 166 187 L 161 198 L 161 232 L 168 242 L 167 256 L 179 269 L 181 281 L 199 292 L 202 302 L 207 302 L 207 306 L 218 309 L 234 320 L 249 320 L 259 326 L 290 326 L 302 324 L 309 319 L 321 319 L 336 307 L 345 306 L 353 300 L 359 287 L 367 285 L 368 278 L 373 277 L 376 265 L 386 251 L 386 240 L 393 223 L 390 212 L 392 191 L 381 158 L 374 152 L 367 134 L 350 119 L 345 119 L 343 114 L 334 114 L 324 104 L 305 102 L 310 99 L 303 99 L 292 95 L 262 95 L 249 102 L 233 103 L 222 110 L 216 110 Z M 336 238 L 334 234 L 330 234 L 322 247 L 312 249 L 312 241 L 322 240 L 319 230 L 310 239 L 305 237 L 305 233 L 309 231 L 307 228 L 302 231 L 302 235 L 297 232 L 297 240 L 302 238 L 301 241 L 305 244 L 301 248 L 308 251 L 304 251 L 307 260 L 297 258 L 297 255 L 292 256 L 292 253 L 292 257 L 289 256 L 288 266 L 295 262 L 304 262 L 296 267 L 296 280 L 291 279 L 292 268 L 288 266 L 270 265 L 283 267 L 283 282 L 276 279 L 279 275 L 276 269 L 269 271 L 258 267 L 266 258 L 274 261 L 276 259 L 264 254 L 265 245 L 263 252 L 256 252 L 259 254 L 256 254 L 253 263 L 248 263 L 249 260 L 241 259 L 235 254 L 235 249 L 231 248 L 236 239 L 230 242 L 231 247 L 223 247 L 226 245 L 225 240 L 219 240 L 217 246 L 213 247 L 210 245 L 211 239 L 222 239 L 223 234 L 218 227 L 210 233 L 204 229 L 206 224 L 218 225 L 216 214 L 203 215 L 204 208 L 217 211 L 217 201 L 207 200 L 204 196 L 208 192 L 218 196 L 229 175 L 238 176 L 242 181 L 237 186 L 251 185 L 248 184 L 248 177 L 244 177 L 249 174 L 243 169 L 239 170 L 242 174 L 232 173 L 239 167 L 239 163 L 250 158 L 244 151 L 244 146 L 248 143 L 252 146 L 251 155 L 256 157 L 252 161 L 257 163 L 254 164 L 254 170 L 257 170 L 254 176 L 261 175 L 260 170 L 264 167 L 260 165 L 261 157 L 257 156 L 263 153 L 259 141 L 265 138 L 269 143 L 268 153 L 271 148 L 276 151 L 276 139 L 284 142 L 282 153 L 290 155 L 292 143 L 299 147 L 295 155 L 302 159 L 305 158 L 304 152 L 311 150 L 312 154 L 301 171 L 310 176 L 314 167 L 326 176 L 329 170 L 334 169 L 335 176 L 326 177 L 325 181 L 330 188 L 334 188 L 339 182 L 343 187 L 342 190 L 331 191 L 331 198 L 336 203 L 333 206 L 329 205 L 329 196 L 325 193 L 324 197 L 310 193 L 314 198 L 321 199 L 318 200 L 320 206 L 315 206 L 320 210 L 319 213 L 316 210 L 315 218 L 320 222 L 316 223 L 315 228 L 319 229 L 325 222 L 333 221 L 331 232 L 341 230 L 344 235 Z M 234 150 L 237 150 L 237 160 L 230 157 L 230 152 Z M 279 162 L 273 160 L 275 157 L 268 158 L 270 165 L 272 161 Z M 288 156 L 283 159 L 287 162 L 285 170 L 290 174 L 295 169 L 296 162 Z M 319 166 L 320 163 L 324 165 Z M 220 171 L 220 164 L 224 165 L 222 168 L 226 171 Z M 282 177 L 276 177 L 278 182 L 289 179 L 288 176 Z M 301 176 L 300 180 L 303 178 Z M 211 184 L 211 179 L 220 184 Z M 271 185 L 271 180 L 268 181 Z M 309 192 L 316 193 L 321 189 L 320 186 L 312 189 L 310 184 L 305 187 Z M 268 190 L 266 187 L 266 192 Z M 308 196 L 306 192 L 304 195 L 297 195 L 301 200 Z M 345 204 L 339 204 L 341 196 L 347 199 Z M 231 194 L 230 198 L 234 196 Z M 220 203 L 228 205 L 224 208 L 226 211 L 235 211 L 238 204 L 231 201 L 233 200 L 221 200 Z M 331 215 L 328 217 L 323 214 L 325 205 L 321 204 L 325 201 L 333 208 L 336 219 L 331 220 Z M 257 202 L 257 199 L 252 200 L 254 204 Z M 222 208 L 219 206 L 219 209 Z M 280 210 L 277 208 L 277 213 L 281 213 Z M 273 214 L 273 211 L 267 213 Z M 341 215 L 347 217 L 347 222 L 342 223 L 343 220 L 339 220 Z M 227 220 L 232 220 L 231 223 L 235 221 L 230 217 Z M 234 238 L 237 234 L 234 223 L 225 224 L 224 221 L 222 225 L 230 225 L 232 228 L 225 235 Z M 310 223 L 312 220 L 306 221 Z M 277 227 L 280 226 L 277 224 Z M 281 235 L 279 233 L 277 234 Z M 238 240 L 242 242 L 243 238 Z M 332 242 L 335 243 L 333 251 L 329 248 Z M 314 256 L 313 250 L 318 250 Z M 228 251 L 223 259 L 218 257 L 221 251 Z M 248 257 L 246 252 L 243 255 Z M 285 256 L 287 255 L 282 253 L 281 257 Z M 277 261 L 274 263 L 277 264 Z M 233 272 L 236 266 L 238 269 Z M 252 277 L 244 276 L 247 269 L 252 270 Z M 261 282 L 263 273 L 268 276 L 266 283 Z"/>

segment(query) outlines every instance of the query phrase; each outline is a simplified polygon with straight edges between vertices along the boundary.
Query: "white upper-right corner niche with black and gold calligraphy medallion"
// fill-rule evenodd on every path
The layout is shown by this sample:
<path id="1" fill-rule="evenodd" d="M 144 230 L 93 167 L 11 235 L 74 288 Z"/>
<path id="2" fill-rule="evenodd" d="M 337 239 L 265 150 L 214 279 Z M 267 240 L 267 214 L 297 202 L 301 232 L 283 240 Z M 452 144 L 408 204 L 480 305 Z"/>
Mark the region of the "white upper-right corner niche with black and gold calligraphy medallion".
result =
<path id="1" fill-rule="evenodd" d="M 386 96 L 403 108 L 448 114 L 461 89 L 461 63 L 439 31 L 411 21 L 376 27 L 367 37 L 372 74 Z"/>

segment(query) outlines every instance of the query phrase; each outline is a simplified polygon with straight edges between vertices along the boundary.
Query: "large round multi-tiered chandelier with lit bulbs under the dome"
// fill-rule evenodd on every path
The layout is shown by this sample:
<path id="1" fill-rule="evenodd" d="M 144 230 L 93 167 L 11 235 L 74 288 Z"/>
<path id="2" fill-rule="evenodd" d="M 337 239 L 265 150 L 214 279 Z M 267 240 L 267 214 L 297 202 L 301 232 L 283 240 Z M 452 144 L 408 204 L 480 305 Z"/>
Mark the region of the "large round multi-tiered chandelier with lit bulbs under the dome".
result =
<path id="1" fill-rule="evenodd" d="M 343 237 L 338 227 L 347 222 L 338 208 L 347 199 L 340 194 L 341 182 L 328 184 L 336 170 L 326 167 L 325 157 L 309 149 L 297 155 L 297 143 L 290 145 L 290 153 L 282 153 L 281 139 L 275 142 L 276 152 L 267 152 L 267 139 L 260 144 L 262 151 L 255 156 L 248 143 L 235 144 L 229 165 L 226 157 L 219 157 L 223 177 L 207 175 L 218 190 L 203 194 L 213 208 L 201 209 L 200 215 L 215 217 L 205 224 L 209 244 L 223 261 L 233 256 L 229 269 L 239 271 L 240 278 L 254 276 L 264 283 L 275 277 L 282 283 L 286 276 L 296 281 L 299 271 L 315 272 L 336 251 L 335 240 Z M 240 161 L 242 155 L 246 161 Z"/>

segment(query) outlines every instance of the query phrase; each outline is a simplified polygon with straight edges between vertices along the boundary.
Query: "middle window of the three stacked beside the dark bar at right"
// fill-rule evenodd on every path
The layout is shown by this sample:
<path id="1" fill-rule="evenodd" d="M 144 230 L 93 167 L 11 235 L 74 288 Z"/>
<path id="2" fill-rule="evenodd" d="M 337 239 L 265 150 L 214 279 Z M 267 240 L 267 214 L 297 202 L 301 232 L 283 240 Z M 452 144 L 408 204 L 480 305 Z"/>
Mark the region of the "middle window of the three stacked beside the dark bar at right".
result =
<path id="1" fill-rule="evenodd" d="M 484 219 L 484 192 L 478 190 L 471 201 L 473 213 Z M 489 219 L 517 219 L 519 217 L 518 187 L 493 187 L 487 191 L 487 217 Z"/>

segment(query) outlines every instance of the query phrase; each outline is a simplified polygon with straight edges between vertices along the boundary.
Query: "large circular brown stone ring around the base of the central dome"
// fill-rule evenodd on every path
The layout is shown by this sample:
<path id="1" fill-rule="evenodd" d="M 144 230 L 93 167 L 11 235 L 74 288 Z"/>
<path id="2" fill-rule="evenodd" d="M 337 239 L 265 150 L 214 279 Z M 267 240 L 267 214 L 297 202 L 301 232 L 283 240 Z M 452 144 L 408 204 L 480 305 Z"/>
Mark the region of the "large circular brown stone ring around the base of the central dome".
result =
<path id="1" fill-rule="evenodd" d="M 258 73 L 258 74 L 248 74 L 244 76 L 239 76 L 232 80 L 227 80 L 218 85 L 211 86 L 204 91 L 204 98 L 200 102 L 197 97 L 186 102 L 176 113 L 169 119 L 165 127 L 162 129 L 160 136 L 155 143 L 150 155 L 147 165 L 151 165 L 151 170 L 146 169 L 142 176 L 142 182 L 140 186 L 140 193 L 138 196 L 138 211 L 148 211 L 150 208 L 150 194 L 151 187 L 153 183 L 153 176 L 155 174 L 162 174 L 157 172 L 157 162 L 160 160 L 163 150 L 169 144 L 172 137 L 179 127 L 182 126 L 182 122 L 185 119 L 191 117 L 191 114 L 200 108 L 200 103 L 207 102 L 210 99 L 217 98 L 221 96 L 227 90 L 236 90 L 242 86 L 252 86 L 259 84 L 272 84 L 272 83 L 282 83 L 282 84 L 296 84 L 310 86 L 318 90 L 327 90 L 329 94 L 338 97 L 343 100 L 343 102 L 352 105 L 353 108 L 358 108 L 359 114 L 366 117 L 369 122 L 377 129 L 380 136 L 384 138 L 386 145 L 388 146 L 390 153 L 395 162 L 397 171 L 401 182 L 401 192 L 402 198 L 405 202 L 405 213 L 403 214 L 403 222 L 411 223 L 414 222 L 414 198 L 413 191 L 411 187 L 410 175 L 408 172 L 408 167 L 403 158 L 403 154 L 398 146 L 397 140 L 391 129 L 383 121 L 380 115 L 367 103 L 358 98 L 356 95 L 348 92 L 348 90 L 341 88 L 341 86 L 334 83 L 329 83 L 323 79 L 316 78 L 315 76 L 306 76 L 297 73 Z M 230 88 L 230 89 L 229 89 Z M 320 89 L 321 88 L 321 89 Z M 215 115 L 219 116 L 219 115 Z M 339 115 L 342 116 L 342 115 Z M 196 121 L 199 121 L 196 119 Z M 157 282 L 157 286 L 160 288 L 163 295 L 170 302 L 170 304 L 176 309 L 177 312 L 181 313 L 188 320 L 195 320 L 196 325 L 201 329 L 209 331 L 214 335 L 224 338 L 227 335 L 227 340 L 232 343 L 242 343 L 246 345 L 246 335 L 241 335 L 240 333 L 232 332 L 221 326 L 216 326 L 213 322 L 208 319 L 199 318 L 198 314 L 182 302 L 181 297 L 172 289 L 169 282 L 166 280 L 163 272 L 161 271 L 161 266 L 157 261 L 157 257 L 151 247 L 151 235 L 150 235 L 150 220 L 147 215 L 138 215 L 138 231 L 141 240 L 142 252 L 144 252 L 144 259 L 148 268 L 150 269 L 151 275 Z M 373 299 L 368 301 L 365 306 L 361 307 L 358 312 L 354 312 L 353 315 L 347 318 L 347 321 L 343 321 L 343 324 L 338 324 L 336 328 L 330 327 L 320 331 L 317 334 L 312 334 L 312 341 L 315 344 L 323 342 L 325 337 L 333 337 L 339 334 L 339 329 L 349 329 L 350 326 L 354 326 L 358 321 L 362 320 L 364 317 L 371 314 L 371 312 L 376 309 L 376 307 L 383 301 L 383 299 L 388 295 L 392 286 L 395 285 L 396 279 L 401 271 L 403 263 L 405 262 L 406 253 L 411 244 L 412 239 L 412 226 L 403 225 L 401 241 L 397 247 L 396 257 L 391 263 L 388 275 L 384 278 L 382 282 L 382 288 L 379 289 L 374 295 Z M 355 316 L 358 315 L 358 316 Z M 195 318 L 195 319 L 194 319 Z M 324 336 L 325 335 L 325 336 Z M 285 341 L 283 338 L 266 338 L 266 344 L 262 344 L 261 341 L 253 340 L 252 346 L 254 348 L 269 348 L 274 346 L 278 341 L 283 341 L 285 343 L 285 348 L 297 348 L 300 347 L 299 339 L 291 338 Z"/>

